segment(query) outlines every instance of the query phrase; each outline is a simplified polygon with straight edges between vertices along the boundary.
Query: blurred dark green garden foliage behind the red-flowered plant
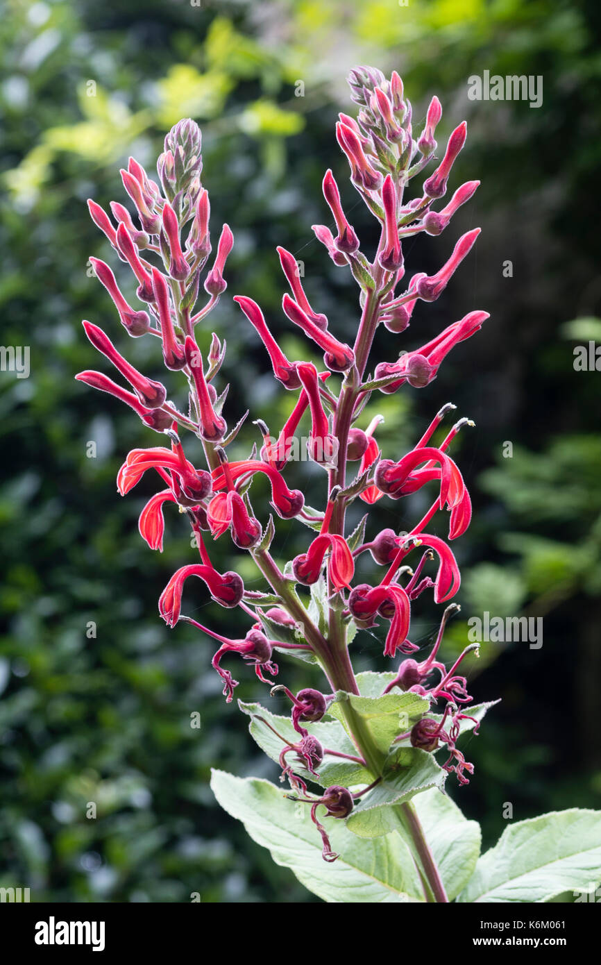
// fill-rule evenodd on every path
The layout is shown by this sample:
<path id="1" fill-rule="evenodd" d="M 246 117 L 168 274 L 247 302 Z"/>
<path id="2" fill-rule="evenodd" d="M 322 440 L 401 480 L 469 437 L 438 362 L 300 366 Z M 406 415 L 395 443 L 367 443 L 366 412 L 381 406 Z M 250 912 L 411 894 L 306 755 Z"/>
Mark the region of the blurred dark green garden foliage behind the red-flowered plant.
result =
<path id="1" fill-rule="evenodd" d="M 503 829 L 507 801 L 515 817 L 598 807 L 598 373 L 572 365 L 574 345 L 599 337 L 590 216 L 601 160 L 597 6 L 7 0 L 5 12 L 2 341 L 31 347 L 31 376 L 0 372 L 0 886 L 29 886 L 38 900 L 187 901 L 193 892 L 212 902 L 313 900 L 208 789 L 211 765 L 271 777 L 274 769 L 224 704 L 206 642 L 158 619 L 158 593 L 192 559 L 188 530 L 168 507 L 165 552 L 150 553 L 137 515 L 152 484 L 122 500 L 114 482 L 128 449 L 156 437 L 72 376 L 96 366 L 82 317 L 118 331 L 87 271 L 89 255 L 110 258 L 85 200 L 123 200 L 118 168 L 127 155 L 150 169 L 166 128 L 186 115 L 203 126 L 212 225 L 227 220 L 235 235 L 227 295 L 256 298 L 289 354 L 306 354 L 279 311 L 284 285 L 274 249 L 284 244 L 304 262 L 312 302 L 343 340 L 352 337 L 355 290 L 324 258 L 310 226 L 326 220 L 324 170 L 346 178 L 333 127 L 337 110 L 348 110 L 343 78 L 357 62 L 399 70 L 416 125 L 434 93 L 445 107 L 445 133 L 467 117 L 456 183 L 482 181 L 447 235 L 408 250 L 410 273 L 435 270 L 461 230 L 484 230 L 476 258 L 439 303 L 418 308 L 402 347 L 473 308 L 492 316 L 422 393 L 372 399 L 366 424 L 381 412 L 378 438 L 387 455 L 400 455 L 449 399 L 477 423 L 455 450 L 475 517 L 455 547 L 463 612 L 446 655 L 465 644 L 466 620 L 484 610 L 544 617 L 543 648 L 484 645 L 470 668 L 477 700 L 503 703 L 481 736 L 469 738 L 476 775 L 453 795 L 483 823 L 487 842 Z M 543 75 L 543 105 L 469 101 L 467 78 L 484 69 Z M 344 202 L 369 248 L 373 225 L 349 187 Z M 230 422 L 250 406 L 279 428 L 290 400 L 234 307 L 226 296 L 210 317 L 229 344 Z M 208 330 L 202 339 L 205 349 Z M 379 358 L 395 357 L 393 341 L 382 333 Z M 153 346 L 140 343 L 128 343 L 129 355 L 156 377 Z M 236 441 L 239 453 L 250 438 L 249 430 Z M 291 483 L 306 483 L 306 463 L 293 470 Z M 313 505 L 319 483 L 315 471 L 307 483 Z M 372 532 L 411 525 L 425 500 L 420 493 L 381 500 Z M 282 526 L 280 559 L 300 552 L 306 538 L 302 527 Z M 245 565 L 225 538 L 215 558 L 224 568 Z M 360 572 L 368 566 L 362 560 Z M 207 605 L 202 594 L 192 602 Z M 215 606 L 205 616 L 221 632 L 241 626 Z M 425 646 L 437 621 L 424 603 L 413 638 Z M 383 666 L 369 634 L 353 650 L 358 669 Z M 291 664 L 281 673 L 292 688 L 319 679 Z M 265 699 L 250 673 L 240 676 L 242 700 Z M 191 727 L 195 713 L 200 729 Z M 90 802 L 96 819 L 86 816 Z"/>

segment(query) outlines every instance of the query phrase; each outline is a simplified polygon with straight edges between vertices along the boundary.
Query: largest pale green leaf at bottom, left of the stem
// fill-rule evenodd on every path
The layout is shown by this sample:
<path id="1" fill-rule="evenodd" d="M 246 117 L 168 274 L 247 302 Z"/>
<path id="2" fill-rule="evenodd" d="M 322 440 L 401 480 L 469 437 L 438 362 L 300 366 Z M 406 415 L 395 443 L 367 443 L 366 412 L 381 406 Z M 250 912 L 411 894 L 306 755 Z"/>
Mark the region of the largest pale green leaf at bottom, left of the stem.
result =
<path id="1" fill-rule="evenodd" d="M 340 858 L 326 863 L 309 806 L 294 805 L 268 781 L 236 778 L 213 770 L 211 787 L 221 807 L 242 821 L 248 834 L 270 850 L 277 865 L 324 901 L 400 903 L 419 900 L 405 890 L 414 886 L 409 852 L 397 835 L 362 841 L 340 820 L 326 818 L 332 847 Z"/>

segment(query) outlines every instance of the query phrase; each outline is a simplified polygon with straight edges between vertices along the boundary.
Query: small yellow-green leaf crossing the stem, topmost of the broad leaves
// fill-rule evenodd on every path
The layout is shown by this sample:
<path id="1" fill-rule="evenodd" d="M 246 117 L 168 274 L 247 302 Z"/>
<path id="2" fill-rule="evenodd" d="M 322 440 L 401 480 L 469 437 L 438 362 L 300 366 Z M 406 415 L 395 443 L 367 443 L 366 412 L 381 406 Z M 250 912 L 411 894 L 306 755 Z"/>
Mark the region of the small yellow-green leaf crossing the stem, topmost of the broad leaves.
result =
<path id="1" fill-rule="evenodd" d="M 349 733 L 341 707 L 341 703 L 345 701 L 348 701 L 353 710 L 363 717 L 378 750 L 384 753 L 388 752 L 393 740 L 401 731 L 411 730 L 430 705 L 429 701 L 419 694 L 399 692 L 385 694 L 383 697 L 357 697 L 355 694 L 347 694 L 339 690 L 336 701 L 328 707 L 328 713 L 341 721 L 344 729 Z"/>

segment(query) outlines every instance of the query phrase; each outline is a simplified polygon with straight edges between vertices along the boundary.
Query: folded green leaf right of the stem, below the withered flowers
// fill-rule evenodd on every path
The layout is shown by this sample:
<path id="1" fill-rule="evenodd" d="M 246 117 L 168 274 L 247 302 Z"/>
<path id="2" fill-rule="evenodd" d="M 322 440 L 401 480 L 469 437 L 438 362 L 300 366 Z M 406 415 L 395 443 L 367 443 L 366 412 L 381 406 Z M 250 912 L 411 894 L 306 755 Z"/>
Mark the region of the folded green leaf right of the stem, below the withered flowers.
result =
<path id="1" fill-rule="evenodd" d="M 430 787 L 442 789 L 447 777 L 431 754 L 416 747 L 400 747 L 386 758 L 382 781 L 346 818 L 347 827 L 360 838 L 379 838 L 401 830 L 397 806 Z"/>

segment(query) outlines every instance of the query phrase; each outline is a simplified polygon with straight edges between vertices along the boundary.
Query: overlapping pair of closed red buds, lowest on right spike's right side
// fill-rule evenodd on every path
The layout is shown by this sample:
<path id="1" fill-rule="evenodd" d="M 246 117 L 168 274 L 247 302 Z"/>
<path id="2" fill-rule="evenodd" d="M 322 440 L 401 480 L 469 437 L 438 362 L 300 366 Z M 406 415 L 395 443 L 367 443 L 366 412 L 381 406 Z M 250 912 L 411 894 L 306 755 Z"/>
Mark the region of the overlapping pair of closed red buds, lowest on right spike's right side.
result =
<path id="1" fill-rule="evenodd" d="M 385 378 L 398 373 L 401 377 L 396 382 L 385 386 L 382 392 L 396 392 L 403 382 L 409 382 L 416 389 L 423 388 L 431 382 L 438 373 L 445 356 L 453 345 L 469 339 L 482 326 L 482 322 L 490 317 L 488 312 L 470 312 L 468 315 L 449 325 L 440 335 L 415 351 L 402 355 L 398 362 L 381 362 L 375 367 L 375 377 Z"/>

